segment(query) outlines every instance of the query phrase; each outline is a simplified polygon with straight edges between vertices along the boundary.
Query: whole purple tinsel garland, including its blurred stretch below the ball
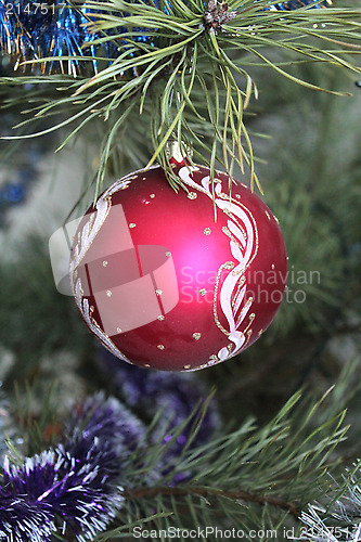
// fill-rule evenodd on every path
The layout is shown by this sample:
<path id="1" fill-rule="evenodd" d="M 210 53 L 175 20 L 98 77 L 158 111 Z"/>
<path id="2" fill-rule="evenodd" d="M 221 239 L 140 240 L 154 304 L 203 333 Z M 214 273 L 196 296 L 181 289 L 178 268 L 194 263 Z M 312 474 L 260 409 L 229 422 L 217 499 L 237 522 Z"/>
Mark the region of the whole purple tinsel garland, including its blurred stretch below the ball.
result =
<path id="1" fill-rule="evenodd" d="M 165 416 L 147 435 L 144 424 L 127 406 L 115 398 L 105 399 L 102 392 L 75 405 L 65 438 L 56 448 L 26 457 L 22 465 L 4 460 L 0 485 L 1 541 L 50 542 L 56 532 L 67 532 L 78 542 L 92 540 L 121 507 L 121 486 L 130 483 L 125 470 L 141 466 L 129 463 L 132 452 L 145 451 L 155 440 L 167 443 L 175 425 L 188 420 L 201 391 L 192 375 L 152 373 L 116 361 L 113 376 L 118 384 L 128 380 L 128 405 L 152 404 L 150 415 L 165 405 Z M 143 393 L 150 396 L 145 398 Z M 199 440 L 202 430 L 205 441 L 215 435 L 219 418 L 214 405 L 209 412 L 195 439 L 198 444 L 204 443 Z M 166 428 L 168 433 L 164 435 Z M 145 485 L 172 472 L 189 434 L 186 426 L 162 462 L 144 477 Z M 170 485 L 189 475 L 178 474 Z"/>

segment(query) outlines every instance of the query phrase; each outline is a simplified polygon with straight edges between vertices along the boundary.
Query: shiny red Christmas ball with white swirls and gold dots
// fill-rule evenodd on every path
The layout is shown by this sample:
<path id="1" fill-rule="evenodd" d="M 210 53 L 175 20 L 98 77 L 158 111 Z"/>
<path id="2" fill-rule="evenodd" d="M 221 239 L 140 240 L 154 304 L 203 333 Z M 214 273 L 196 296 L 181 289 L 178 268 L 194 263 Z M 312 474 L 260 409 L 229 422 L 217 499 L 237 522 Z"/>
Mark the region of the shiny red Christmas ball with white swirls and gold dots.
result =
<path id="1" fill-rule="evenodd" d="M 175 165 L 124 177 L 88 209 L 70 281 L 90 331 L 121 360 L 204 369 L 248 348 L 283 298 L 286 250 L 276 218 L 244 184 Z"/>

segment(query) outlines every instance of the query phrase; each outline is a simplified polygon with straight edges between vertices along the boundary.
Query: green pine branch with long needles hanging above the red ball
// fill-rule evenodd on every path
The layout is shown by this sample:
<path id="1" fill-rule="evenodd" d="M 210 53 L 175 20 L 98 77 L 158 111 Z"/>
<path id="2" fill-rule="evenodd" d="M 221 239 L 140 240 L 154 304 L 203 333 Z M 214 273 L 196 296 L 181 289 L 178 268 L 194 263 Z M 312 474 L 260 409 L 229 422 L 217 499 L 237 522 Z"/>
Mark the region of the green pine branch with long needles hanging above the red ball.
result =
<path id="1" fill-rule="evenodd" d="M 179 179 L 173 176 L 167 156 L 170 140 L 194 149 L 195 156 L 209 165 L 211 171 L 220 164 L 231 173 L 233 165 L 238 164 L 242 169 L 249 169 L 250 182 L 257 182 L 244 118 L 252 96 L 257 98 L 257 87 L 248 68 L 261 61 L 294 82 L 336 94 L 339 92 L 306 81 L 286 66 L 308 61 L 360 73 L 357 61 L 347 55 L 361 52 L 359 11 L 305 5 L 282 11 L 280 16 L 270 10 L 271 5 L 263 0 L 233 1 L 229 8 L 210 2 L 206 10 L 201 0 L 188 4 L 175 0 L 167 8 L 162 2 L 157 7 L 124 0 L 76 3 L 72 7 L 75 13 L 86 12 L 90 21 L 88 31 L 93 36 L 92 47 L 106 49 L 116 42 L 117 55 L 109 63 L 108 56 L 102 55 L 102 49 L 96 49 L 98 55 L 81 52 L 59 57 L 42 55 L 28 61 L 33 66 L 61 61 L 106 65 L 92 77 L 68 80 L 68 85 L 57 87 L 59 96 L 48 100 L 46 107 L 34 108 L 30 120 L 34 115 L 47 118 L 66 112 L 66 119 L 53 126 L 59 129 L 73 121 L 77 124 L 66 141 L 96 117 L 109 122 L 101 152 L 98 192 L 116 133 L 125 127 L 131 129 L 131 108 L 140 114 L 147 112 L 144 126 L 152 127 L 154 149 L 149 166 L 157 159 L 175 188 Z M 269 51 L 274 48 L 293 57 L 287 62 L 273 62 Z M 31 76 L 3 80 L 3 85 L 10 82 L 25 86 L 55 80 Z M 192 128 L 195 119 L 211 127 L 206 138 Z M 138 121 L 142 121 L 142 116 Z"/>

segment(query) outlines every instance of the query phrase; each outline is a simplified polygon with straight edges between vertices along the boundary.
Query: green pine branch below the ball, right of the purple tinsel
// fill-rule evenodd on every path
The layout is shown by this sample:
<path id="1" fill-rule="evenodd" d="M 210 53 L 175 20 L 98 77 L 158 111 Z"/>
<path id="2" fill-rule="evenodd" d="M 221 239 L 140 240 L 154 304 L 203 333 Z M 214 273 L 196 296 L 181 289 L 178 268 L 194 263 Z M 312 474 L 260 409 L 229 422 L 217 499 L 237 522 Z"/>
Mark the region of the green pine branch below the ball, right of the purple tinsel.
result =
<path id="1" fill-rule="evenodd" d="M 304 417 L 300 416 L 302 408 L 293 411 L 295 401 L 297 402 L 296 397 L 267 427 L 254 433 L 252 424 L 246 423 L 238 431 L 225 438 L 214 439 L 209 444 L 185 454 L 180 459 L 176 473 L 180 470 L 193 473 L 192 479 L 186 485 L 169 487 L 157 483 L 149 487 L 137 485 L 134 480 L 131 488 L 127 488 L 123 493 L 126 498 L 124 512 L 127 509 L 128 514 L 133 514 L 137 509 L 138 514 L 146 516 L 152 507 L 162 511 L 171 509 L 175 515 L 175 521 L 171 525 L 176 526 L 186 525 L 190 514 L 193 514 L 194 525 L 212 525 L 207 518 L 210 513 L 211 516 L 217 517 L 218 522 L 228 518 L 231 525 L 237 525 L 240 528 L 248 526 L 248 529 L 249 525 L 256 525 L 259 528 L 259 506 L 269 509 L 267 514 L 273 518 L 273 514 L 280 518 L 283 511 L 295 518 L 299 517 L 305 505 L 305 495 L 315 488 L 318 492 L 322 491 L 325 481 L 323 478 L 324 460 L 328 456 L 328 453 L 324 454 L 323 446 L 327 446 L 326 442 L 328 442 L 333 448 L 343 437 L 337 429 L 331 430 L 330 434 L 328 422 L 322 429 L 307 437 L 304 431 L 317 412 L 317 408 L 310 409 L 306 414 L 304 412 Z M 293 413 L 294 421 L 297 420 L 298 429 L 296 427 L 286 429 L 283 424 L 279 425 L 279 422 L 284 420 L 283 416 L 287 417 L 287 412 Z M 284 422 L 287 424 L 286 420 Z M 317 435 L 321 437 L 319 430 L 324 431 L 324 435 L 327 434 L 321 444 L 323 452 L 313 440 L 313 438 L 319 438 Z M 301 451 L 304 442 L 306 443 L 305 454 Z M 273 453 L 275 453 L 275 462 L 272 460 Z M 293 454 L 295 454 L 294 459 Z M 323 459 L 318 463 L 318 457 L 321 459 L 321 456 Z M 149 450 L 150 464 L 162 461 L 160 457 L 157 448 Z M 332 463 L 328 467 L 333 468 L 331 465 Z M 205 485 L 202 483 L 203 481 Z M 241 490 L 240 483 L 247 489 Z M 240 501 L 245 506 L 240 506 Z M 119 524 L 123 521 L 121 513 L 118 521 Z M 169 524 L 160 520 L 154 528 L 163 529 L 166 525 Z M 269 528 L 270 525 L 272 525 L 271 520 L 267 519 L 266 527 Z"/>

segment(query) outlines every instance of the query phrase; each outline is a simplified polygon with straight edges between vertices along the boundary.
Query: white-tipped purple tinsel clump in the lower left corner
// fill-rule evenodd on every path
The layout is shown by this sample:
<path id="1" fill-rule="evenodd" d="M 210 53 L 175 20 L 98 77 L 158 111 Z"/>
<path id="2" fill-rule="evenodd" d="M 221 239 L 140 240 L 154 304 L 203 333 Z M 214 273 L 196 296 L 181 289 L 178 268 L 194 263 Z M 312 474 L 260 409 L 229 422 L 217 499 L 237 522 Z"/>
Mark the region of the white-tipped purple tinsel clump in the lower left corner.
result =
<path id="1" fill-rule="evenodd" d="M 21 466 L 5 459 L 0 540 L 48 542 L 65 528 L 78 542 L 91 540 L 121 506 L 124 462 L 143 439 L 143 425 L 119 401 L 88 399 L 62 444 Z"/>

